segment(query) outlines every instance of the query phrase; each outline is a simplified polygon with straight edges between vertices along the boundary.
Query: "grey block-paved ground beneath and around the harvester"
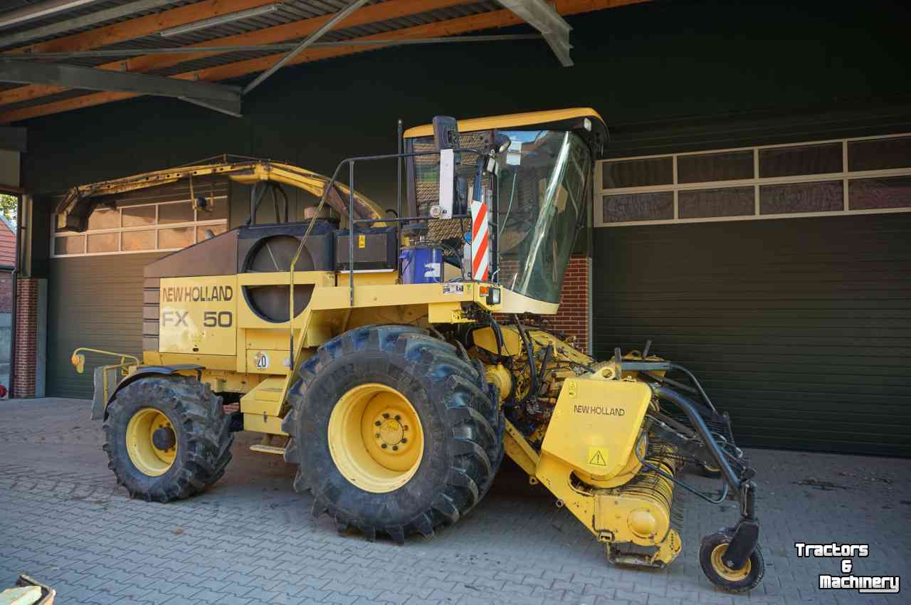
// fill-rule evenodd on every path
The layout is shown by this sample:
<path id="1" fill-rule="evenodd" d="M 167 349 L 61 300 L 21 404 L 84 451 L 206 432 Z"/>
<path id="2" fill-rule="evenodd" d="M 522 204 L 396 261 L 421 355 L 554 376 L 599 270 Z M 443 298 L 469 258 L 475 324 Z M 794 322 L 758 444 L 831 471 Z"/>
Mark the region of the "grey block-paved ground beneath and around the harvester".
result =
<path id="1" fill-rule="evenodd" d="M 403 547 L 338 536 L 312 519 L 294 468 L 239 434 L 227 475 L 167 505 L 128 499 L 107 470 L 86 401 L 0 402 L 0 586 L 26 571 L 61 605 L 98 603 L 903 603 L 899 595 L 816 590 L 839 559 L 797 559 L 794 541 L 871 544 L 855 573 L 911 581 L 907 460 L 750 452 L 760 473 L 766 575 L 749 595 L 715 590 L 696 553 L 736 506 L 690 499 L 683 553 L 669 569 L 611 567 L 543 487 L 505 464 L 485 501 L 453 528 Z M 818 485 L 828 482 L 823 489 Z"/>

